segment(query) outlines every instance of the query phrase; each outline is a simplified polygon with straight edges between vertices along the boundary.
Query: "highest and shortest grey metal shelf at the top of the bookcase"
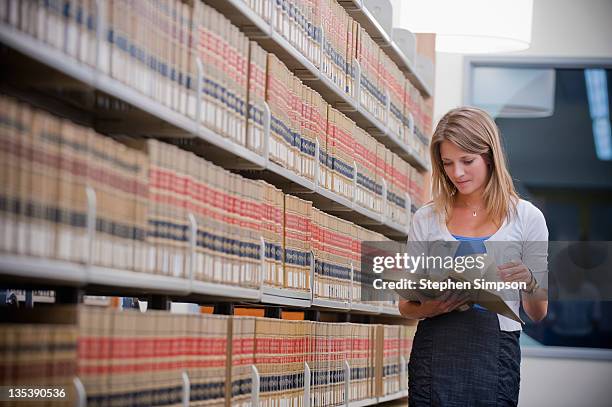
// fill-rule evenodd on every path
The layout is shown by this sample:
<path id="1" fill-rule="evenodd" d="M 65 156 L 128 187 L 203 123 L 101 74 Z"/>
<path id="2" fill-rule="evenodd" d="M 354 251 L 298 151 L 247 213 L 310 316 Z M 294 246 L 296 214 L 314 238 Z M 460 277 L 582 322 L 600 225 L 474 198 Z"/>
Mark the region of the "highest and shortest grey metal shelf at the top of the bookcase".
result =
<path id="1" fill-rule="evenodd" d="M 356 20 L 372 37 L 372 39 L 385 51 L 393 62 L 404 72 L 410 81 L 421 91 L 424 96 L 433 96 L 430 86 L 421 78 L 414 64 L 406 58 L 404 53 L 391 38 L 389 33 L 380 25 L 378 20 L 362 3 L 362 0 L 342 0 L 344 6 L 354 20 Z"/>

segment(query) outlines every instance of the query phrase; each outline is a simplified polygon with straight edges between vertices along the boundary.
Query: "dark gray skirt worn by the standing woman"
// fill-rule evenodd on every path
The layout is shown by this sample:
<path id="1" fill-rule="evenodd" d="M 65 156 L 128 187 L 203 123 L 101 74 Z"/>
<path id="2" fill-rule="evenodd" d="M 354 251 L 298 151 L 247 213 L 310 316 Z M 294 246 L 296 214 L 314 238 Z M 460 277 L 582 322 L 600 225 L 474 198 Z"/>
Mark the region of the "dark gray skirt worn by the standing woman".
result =
<path id="1" fill-rule="evenodd" d="M 419 322 L 408 364 L 410 407 L 518 404 L 520 331 L 500 331 L 497 314 L 470 308 Z"/>

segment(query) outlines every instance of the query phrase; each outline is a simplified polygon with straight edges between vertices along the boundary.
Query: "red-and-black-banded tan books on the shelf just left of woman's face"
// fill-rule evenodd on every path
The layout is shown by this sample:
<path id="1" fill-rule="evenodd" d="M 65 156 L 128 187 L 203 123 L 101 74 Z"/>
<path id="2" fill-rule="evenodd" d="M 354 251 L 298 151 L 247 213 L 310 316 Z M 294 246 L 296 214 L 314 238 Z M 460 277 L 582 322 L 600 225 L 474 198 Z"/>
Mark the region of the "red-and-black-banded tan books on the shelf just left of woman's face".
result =
<path id="1" fill-rule="evenodd" d="M 419 201 L 424 175 L 303 85 L 273 54 L 268 54 L 267 71 L 266 101 L 272 114 L 270 159 L 406 225 L 412 210 L 407 198 Z M 386 202 L 383 180 L 387 183 Z"/>

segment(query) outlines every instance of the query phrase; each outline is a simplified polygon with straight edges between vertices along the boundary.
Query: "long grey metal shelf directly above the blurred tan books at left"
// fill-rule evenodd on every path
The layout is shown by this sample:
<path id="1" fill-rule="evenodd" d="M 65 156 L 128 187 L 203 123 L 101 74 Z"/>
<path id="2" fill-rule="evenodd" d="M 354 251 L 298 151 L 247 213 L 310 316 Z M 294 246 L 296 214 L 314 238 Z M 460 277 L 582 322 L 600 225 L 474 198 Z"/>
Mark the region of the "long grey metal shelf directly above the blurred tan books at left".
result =
<path id="1" fill-rule="evenodd" d="M 265 169 L 267 174 L 262 174 L 264 179 L 273 184 L 284 185 L 287 191 L 302 191 L 308 194 L 309 198 L 311 198 L 322 210 L 330 211 L 330 208 L 335 208 L 336 210 L 333 212 L 336 216 L 353 221 L 358 225 L 367 226 L 371 230 L 392 238 L 407 237 L 407 227 L 393 222 L 391 219 L 385 217 L 384 214 L 369 211 L 367 208 L 361 207 L 351 200 L 339 196 L 333 191 L 322 188 L 320 185 L 270 161 L 267 157 L 261 156 L 238 145 L 205 128 L 201 123 L 191 120 L 167 106 L 140 94 L 136 90 L 111 78 L 109 75 L 95 68 L 79 64 L 76 61 L 66 58 L 63 52 L 47 44 L 43 44 L 4 24 L 0 24 L 0 42 L 27 55 L 33 63 L 52 68 L 65 77 L 76 80 L 81 86 L 104 92 L 107 95 L 141 110 L 149 120 L 161 120 L 165 125 L 172 127 L 172 130 L 164 129 L 166 135 L 169 132 L 172 134 L 178 133 L 205 141 L 208 143 L 205 151 L 202 149 L 197 152 L 199 155 L 211 159 L 215 163 L 219 163 L 226 168 Z M 125 128 L 125 126 L 122 126 L 122 128 Z M 105 130 L 104 125 L 101 126 L 101 130 Z M 269 138 L 269 126 L 266 127 L 265 133 L 265 137 Z M 318 160 L 316 160 L 316 163 L 319 165 Z M 383 192 L 385 191 L 386 189 L 383 190 Z M 412 209 L 414 210 L 414 208 Z"/>

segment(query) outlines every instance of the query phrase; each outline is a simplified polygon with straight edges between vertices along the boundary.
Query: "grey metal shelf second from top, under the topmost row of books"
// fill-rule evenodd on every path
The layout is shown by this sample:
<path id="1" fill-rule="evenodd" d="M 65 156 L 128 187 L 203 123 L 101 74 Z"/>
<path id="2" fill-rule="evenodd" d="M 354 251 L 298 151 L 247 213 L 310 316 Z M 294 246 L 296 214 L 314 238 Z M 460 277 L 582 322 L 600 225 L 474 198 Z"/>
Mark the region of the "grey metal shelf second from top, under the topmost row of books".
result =
<path id="1" fill-rule="evenodd" d="M 429 171 L 429 164 L 418 157 L 406 143 L 392 134 L 386 124 L 376 119 L 358 101 L 339 89 L 287 39 L 276 32 L 271 24 L 251 10 L 245 2 L 242 0 L 205 0 L 205 2 L 223 12 L 233 24 L 240 27 L 246 35 L 256 40 L 268 52 L 274 53 L 302 81 L 321 94 L 328 103 L 346 114 L 361 128 L 369 131 L 390 150 L 418 169 Z M 359 81 L 356 86 L 359 86 Z"/>

